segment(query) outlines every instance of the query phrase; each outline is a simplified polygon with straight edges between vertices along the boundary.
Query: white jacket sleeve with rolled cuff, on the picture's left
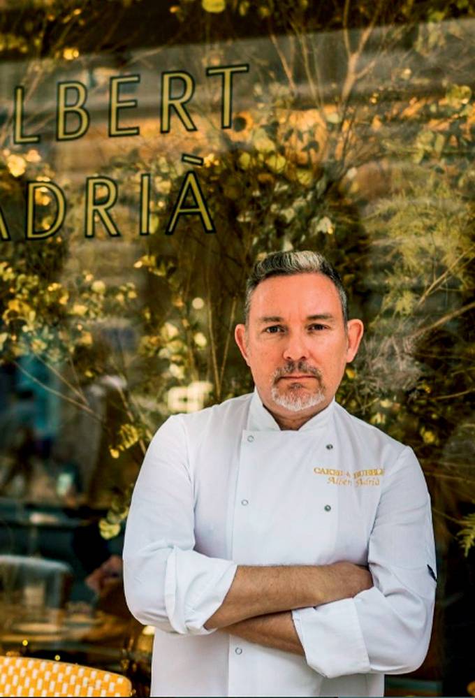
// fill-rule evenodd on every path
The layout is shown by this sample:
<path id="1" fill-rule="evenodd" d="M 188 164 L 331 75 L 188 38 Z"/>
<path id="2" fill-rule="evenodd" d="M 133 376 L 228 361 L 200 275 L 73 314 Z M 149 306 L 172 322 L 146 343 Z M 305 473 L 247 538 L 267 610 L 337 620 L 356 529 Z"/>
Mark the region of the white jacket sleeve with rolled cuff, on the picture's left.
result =
<path id="1" fill-rule="evenodd" d="M 133 616 L 166 632 L 207 634 L 237 566 L 193 550 L 193 481 L 180 416 L 147 450 L 133 491 L 124 541 L 124 590 Z"/>

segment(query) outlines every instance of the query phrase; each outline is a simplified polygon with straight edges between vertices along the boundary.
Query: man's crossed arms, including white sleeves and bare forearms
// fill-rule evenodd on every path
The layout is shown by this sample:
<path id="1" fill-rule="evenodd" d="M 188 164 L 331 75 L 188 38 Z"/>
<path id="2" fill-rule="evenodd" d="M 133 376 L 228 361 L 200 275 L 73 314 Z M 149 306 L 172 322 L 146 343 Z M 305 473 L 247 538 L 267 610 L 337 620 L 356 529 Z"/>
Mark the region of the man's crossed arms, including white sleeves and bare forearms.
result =
<path id="1" fill-rule="evenodd" d="M 185 442 L 180 418 L 162 426 L 133 495 L 124 586 L 140 622 L 183 635 L 218 630 L 300 655 L 305 650 L 309 667 L 328 678 L 405 673 L 421 664 L 435 565 L 430 501 L 410 449 L 397 457 L 381 494 L 367 546 L 370 575 L 344 561 L 238 566 L 212 527 L 206 530 L 212 543 L 196 541 Z M 225 490 L 223 483 L 222 492 L 215 486 L 220 506 Z"/>

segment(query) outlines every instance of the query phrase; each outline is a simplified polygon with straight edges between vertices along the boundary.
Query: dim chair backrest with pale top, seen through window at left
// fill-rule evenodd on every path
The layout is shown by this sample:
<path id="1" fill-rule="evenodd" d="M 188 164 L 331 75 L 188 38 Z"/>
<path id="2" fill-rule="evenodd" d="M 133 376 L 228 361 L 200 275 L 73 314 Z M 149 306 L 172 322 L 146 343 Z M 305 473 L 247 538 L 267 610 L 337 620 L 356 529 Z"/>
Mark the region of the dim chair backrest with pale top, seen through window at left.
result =
<path id="1" fill-rule="evenodd" d="M 61 608 L 66 603 L 72 579 L 73 570 L 66 562 L 0 555 L 0 590 L 7 596 L 22 595 L 22 601 L 27 604 L 31 596 L 33 600 L 37 597 L 38 605 Z"/>

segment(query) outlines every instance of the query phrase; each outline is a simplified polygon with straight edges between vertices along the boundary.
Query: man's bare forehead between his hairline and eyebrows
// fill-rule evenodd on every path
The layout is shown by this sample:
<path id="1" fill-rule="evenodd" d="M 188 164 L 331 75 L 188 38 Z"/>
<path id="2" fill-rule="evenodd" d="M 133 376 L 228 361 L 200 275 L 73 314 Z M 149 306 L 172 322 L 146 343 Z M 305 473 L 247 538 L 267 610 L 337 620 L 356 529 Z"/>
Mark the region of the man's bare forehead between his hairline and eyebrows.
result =
<path id="1" fill-rule="evenodd" d="M 249 313 L 251 320 L 295 314 L 303 317 L 315 314 L 342 317 L 342 305 L 335 284 L 323 274 L 312 272 L 270 277 L 254 289 Z"/>

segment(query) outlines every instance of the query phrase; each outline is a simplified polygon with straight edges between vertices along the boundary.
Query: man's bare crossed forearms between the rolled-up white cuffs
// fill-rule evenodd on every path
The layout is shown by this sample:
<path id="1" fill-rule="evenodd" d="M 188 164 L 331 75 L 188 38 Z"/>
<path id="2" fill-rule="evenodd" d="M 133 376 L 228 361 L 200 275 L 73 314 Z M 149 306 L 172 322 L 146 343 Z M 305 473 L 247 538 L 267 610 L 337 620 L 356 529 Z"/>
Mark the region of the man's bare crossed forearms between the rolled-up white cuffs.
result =
<path id="1" fill-rule="evenodd" d="M 371 587 L 370 572 L 351 562 L 289 567 L 240 565 L 224 602 L 208 618 L 205 628 L 304 655 L 291 611 L 351 598 Z"/>

